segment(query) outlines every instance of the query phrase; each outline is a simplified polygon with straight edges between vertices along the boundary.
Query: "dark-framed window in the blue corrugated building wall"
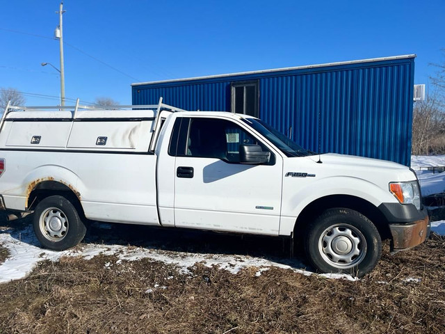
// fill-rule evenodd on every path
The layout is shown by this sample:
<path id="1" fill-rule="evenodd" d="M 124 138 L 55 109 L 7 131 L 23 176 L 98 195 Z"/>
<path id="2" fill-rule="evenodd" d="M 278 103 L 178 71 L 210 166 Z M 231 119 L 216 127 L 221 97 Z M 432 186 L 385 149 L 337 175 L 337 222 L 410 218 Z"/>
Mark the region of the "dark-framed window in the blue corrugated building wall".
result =
<path id="1" fill-rule="evenodd" d="M 232 113 L 258 117 L 259 81 L 232 82 Z"/>

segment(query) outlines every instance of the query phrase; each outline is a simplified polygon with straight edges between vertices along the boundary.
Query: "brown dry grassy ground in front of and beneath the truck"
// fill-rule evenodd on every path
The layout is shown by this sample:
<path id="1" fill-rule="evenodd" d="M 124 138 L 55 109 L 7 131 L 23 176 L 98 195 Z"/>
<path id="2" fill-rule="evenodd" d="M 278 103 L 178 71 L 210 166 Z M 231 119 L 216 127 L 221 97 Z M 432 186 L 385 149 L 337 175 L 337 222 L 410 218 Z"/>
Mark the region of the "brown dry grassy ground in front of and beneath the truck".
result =
<path id="1" fill-rule="evenodd" d="M 134 229 L 108 233 L 120 244 L 141 244 L 147 231 L 163 237 Z M 98 242 L 90 230 L 85 242 Z M 276 239 L 166 235 L 170 246 L 163 239 L 150 247 L 286 256 Z M 256 267 L 233 274 L 195 264 L 180 273 L 150 259 L 62 257 L 0 285 L 0 333 L 445 333 L 444 246 L 436 234 L 396 255 L 385 245 L 378 267 L 357 281 L 274 267 L 258 275 Z M 1 249 L 0 262 L 8 255 Z"/>

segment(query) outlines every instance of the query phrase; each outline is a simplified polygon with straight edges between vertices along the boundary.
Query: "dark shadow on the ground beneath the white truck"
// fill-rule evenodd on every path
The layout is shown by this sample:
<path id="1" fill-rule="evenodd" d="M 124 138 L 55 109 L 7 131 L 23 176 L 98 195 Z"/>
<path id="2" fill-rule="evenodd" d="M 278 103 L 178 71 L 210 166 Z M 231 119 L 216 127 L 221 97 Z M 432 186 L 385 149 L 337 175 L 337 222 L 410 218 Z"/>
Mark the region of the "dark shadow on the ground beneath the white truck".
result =
<path id="1" fill-rule="evenodd" d="M 31 246 L 42 247 L 32 227 L 33 215 L 7 221 L 8 212 L 0 214 L 3 230 L 13 239 Z M 286 264 L 293 269 L 312 269 L 305 257 L 297 252 L 291 258 L 289 238 L 233 234 L 183 228 L 100 223 L 90 221 L 82 244 L 137 246 L 153 250 L 195 253 L 204 255 L 246 255 Z"/>

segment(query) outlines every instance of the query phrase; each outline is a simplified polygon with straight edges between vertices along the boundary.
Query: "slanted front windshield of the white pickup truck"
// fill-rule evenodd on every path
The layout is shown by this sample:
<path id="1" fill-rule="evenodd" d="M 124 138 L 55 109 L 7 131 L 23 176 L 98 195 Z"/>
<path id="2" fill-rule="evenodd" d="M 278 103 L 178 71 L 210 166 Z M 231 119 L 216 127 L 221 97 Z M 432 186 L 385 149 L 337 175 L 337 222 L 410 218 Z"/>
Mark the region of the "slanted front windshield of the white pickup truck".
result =
<path id="1" fill-rule="evenodd" d="M 280 151 L 286 154 L 287 157 L 307 157 L 316 153 L 302 148 L 297 143 L 291 141 L 281 132 L 278 132 L 273 127 L 270 127 L 266 122 L 258 120 L 257 118 L 243 118 L 243 122 L 248 123 L 257 132 L 266 137 L 270 143 L 273 143 Z"/>

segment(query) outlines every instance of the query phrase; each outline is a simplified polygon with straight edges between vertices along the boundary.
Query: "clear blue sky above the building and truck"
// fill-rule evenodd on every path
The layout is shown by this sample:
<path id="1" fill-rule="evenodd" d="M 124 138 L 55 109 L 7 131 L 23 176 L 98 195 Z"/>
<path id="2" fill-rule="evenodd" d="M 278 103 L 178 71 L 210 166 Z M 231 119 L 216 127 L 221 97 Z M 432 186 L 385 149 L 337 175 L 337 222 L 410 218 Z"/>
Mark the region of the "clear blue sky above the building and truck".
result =
<path id="1" fill-rule="evenodd" d="M 1 1 L 0 87 L 58 104 L 60 1 Z M 131 84 L 416 54 L 444 63 L 445 1 L 65 0 L 65 96 L 131 104 Z"/>

